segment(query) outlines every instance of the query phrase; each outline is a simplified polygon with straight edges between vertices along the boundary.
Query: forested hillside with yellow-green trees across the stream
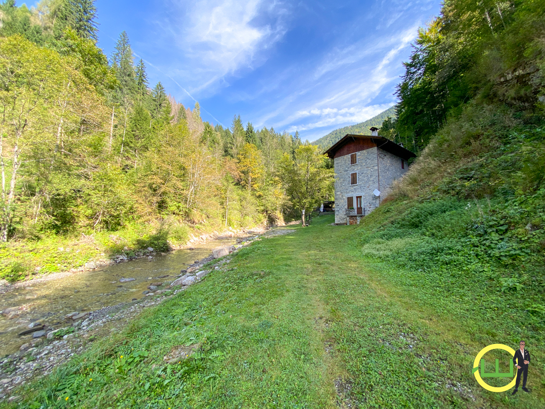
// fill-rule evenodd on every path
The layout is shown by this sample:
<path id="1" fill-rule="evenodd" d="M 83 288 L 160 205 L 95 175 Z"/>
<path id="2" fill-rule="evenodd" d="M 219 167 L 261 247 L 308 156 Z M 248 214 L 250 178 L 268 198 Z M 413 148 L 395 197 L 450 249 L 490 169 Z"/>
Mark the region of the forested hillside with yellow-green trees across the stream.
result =
<path id="1" fill-rule="evenodd" d="M 203 122 L 149 83 L 126 32 L 104 55 L 97 27 L 94 1 L 0 4 L 0 279 L 283 224 L 329 199 L 330 161 L 298 133 Z"/>

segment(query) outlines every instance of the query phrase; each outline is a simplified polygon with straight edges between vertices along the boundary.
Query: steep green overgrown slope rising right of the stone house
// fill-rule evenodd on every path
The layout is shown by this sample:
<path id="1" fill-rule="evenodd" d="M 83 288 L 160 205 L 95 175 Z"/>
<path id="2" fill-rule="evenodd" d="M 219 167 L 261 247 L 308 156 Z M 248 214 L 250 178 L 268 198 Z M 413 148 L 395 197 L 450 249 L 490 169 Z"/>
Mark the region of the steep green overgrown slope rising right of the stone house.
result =
<path id="1" fill-rule="evenodd" d="M 543 351 L 544 177 L 540 117 L 523 122 L 501 106 L 468 105 L 365 218 L 358 243 L 416 304 L 433 303 L 441 319 L 487 323 L 474 342 L 525 339 Z"/>

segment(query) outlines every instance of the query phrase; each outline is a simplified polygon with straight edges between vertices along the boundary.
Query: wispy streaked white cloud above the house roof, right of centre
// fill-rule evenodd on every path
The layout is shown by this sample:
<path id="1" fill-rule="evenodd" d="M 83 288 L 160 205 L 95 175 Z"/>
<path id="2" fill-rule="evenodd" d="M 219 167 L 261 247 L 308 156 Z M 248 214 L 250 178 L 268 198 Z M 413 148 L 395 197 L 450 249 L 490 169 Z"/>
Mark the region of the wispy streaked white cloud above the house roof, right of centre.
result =
<path id="1" fill-rule="evenodd" d="M 414 39 L 417 28 L 418 25 L 414 25 L 371 46 L 358 43 L 328 53 L 310 81 L 313 84 L 322 82 L 322 92 L 314 89 L 313 99 L 298 104 L 308 105 L 292 110 L 288 115 L 285 115 L 286 111 L 275 112 L 278 116 L 285 115 L 278 118 L 276 126 L 287 126 L 289 132 L 342 126 L 366 121 L 388 109 L 394 104 L 393 96 L 383 104 L 372 101 L 381 89 L 398 79 L 393 74 L 398 72 L 396 60 Z M 318 95 L 321 98 L 316 98 Z M 271 118 L 274 116 L 269 114 L 266 121 Z"/>

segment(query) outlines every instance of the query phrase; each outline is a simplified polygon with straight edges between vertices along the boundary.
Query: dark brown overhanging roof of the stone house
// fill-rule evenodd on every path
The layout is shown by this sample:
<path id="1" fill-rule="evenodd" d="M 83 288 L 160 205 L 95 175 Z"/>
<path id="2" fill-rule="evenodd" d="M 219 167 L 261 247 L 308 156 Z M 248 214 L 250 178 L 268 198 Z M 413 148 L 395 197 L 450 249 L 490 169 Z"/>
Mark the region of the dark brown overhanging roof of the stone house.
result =
<path id="1" fill-rule="evenodd" d="M 343 136 L 340 141 L 325 151 L 324 155 L 328 155 L 329 158 L 334 159 L 350 153 L 365 151 L 365 149 L 374 147 L 379 147 L 380 149 L 390 152 L 391 154 L 405 160 L 416 157 L 416 155 L 409 151 L 409 149 L 405 149 L 401 145 L 397 145 L 397 143 L 390 141 L 383 136 L 353 134 Z"/>

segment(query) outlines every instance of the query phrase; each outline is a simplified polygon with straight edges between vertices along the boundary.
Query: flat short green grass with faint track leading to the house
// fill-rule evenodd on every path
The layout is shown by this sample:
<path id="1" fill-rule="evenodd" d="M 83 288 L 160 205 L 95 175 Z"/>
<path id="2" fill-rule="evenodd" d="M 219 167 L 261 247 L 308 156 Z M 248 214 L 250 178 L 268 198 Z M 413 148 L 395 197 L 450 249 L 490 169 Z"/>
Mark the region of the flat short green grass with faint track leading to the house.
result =
<path id="1" fill-rule="evenodd" d="M 471 375 L 481 348 L 517 345 L 511 321 L 519 310 L 508 320 L 490 313 L 511 293 L 492 294 L 496 303 L 489 307 L 470 303 L 478 297 L 463 295 L 471 291 L 468 280 L 438 273 L 425 279 L 425 272 L 395 267 L 362 251 L 365 226 L 332 221 L 321 216 L 310 227 L 241 249 L 223 270 L 20 390 L 26 399 L 20 405 L 545 406 L 539 363 L 545 357 L 532 339 L 525 340 L 531 394 L 490 393 Z M 174 346 L 194 344 L 200 347 L 191 357 L 164 362 Z"/>

